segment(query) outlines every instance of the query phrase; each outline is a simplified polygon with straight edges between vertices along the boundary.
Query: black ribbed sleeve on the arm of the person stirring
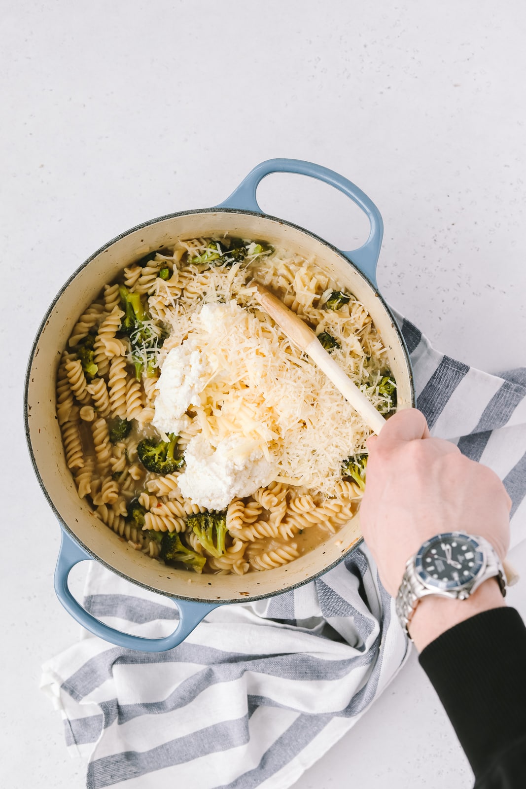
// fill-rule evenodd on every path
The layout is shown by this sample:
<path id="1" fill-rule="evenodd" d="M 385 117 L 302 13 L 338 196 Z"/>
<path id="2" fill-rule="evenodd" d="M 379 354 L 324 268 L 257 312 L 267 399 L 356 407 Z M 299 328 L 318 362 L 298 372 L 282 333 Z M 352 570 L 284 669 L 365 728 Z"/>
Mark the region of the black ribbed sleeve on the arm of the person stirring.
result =
<path id="1" fill-rule="evenodd" d="M 475 773 L 475 789 L 526 787 L 526 627 L 493 608 L 431 641 L 420 665 Z"/>

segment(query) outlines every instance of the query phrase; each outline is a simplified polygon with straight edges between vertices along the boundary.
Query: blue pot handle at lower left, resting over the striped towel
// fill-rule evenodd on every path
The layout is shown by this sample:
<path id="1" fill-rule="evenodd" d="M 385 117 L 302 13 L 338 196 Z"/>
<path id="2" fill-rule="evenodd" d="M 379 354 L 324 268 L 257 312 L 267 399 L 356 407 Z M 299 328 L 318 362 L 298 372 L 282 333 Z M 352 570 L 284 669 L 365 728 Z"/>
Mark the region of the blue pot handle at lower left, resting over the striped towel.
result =
<path id="1" fill-rule="evenodd" d="M 185 641 L 185 638 L 192 633 L 192 630 L 198 625 L 201 619 L 218 608 L 219 603 L 199 603 L 192 602 L 191 600 L 178 600 L 177 597 L 170 597 L 179 610 L 179 622 L 176 629 L 172 634 L 165 638 L 143 638 L 142 636 L 134 636 L 129 633 L 121 633 L 121 630 L 115 630 L 114 627 L 105 625 L 95 616 L 88 614 L 84 608 L 75 600 L 72 593 L 69 591 L 68 576 L 70 570 L 79 562 L 84 559 L 93 559 L 94 557 L 88 551 L 81 548 L 72 537 L 62 530 L 62 542 L 58 552 L 57 567 L 54 573 L 54 589 L 57 593 L 58 600 L 61 601 L 65 610 L 76 619 L 80 625 L 89 630 L 95 636 L 103 638 L 105 641 L 110 641 L 111 644 L 125 647 L 126 649 L 136 649 L 138 652 L 166 652 L 166 649 L 173 649 L 173 647 Z"/>

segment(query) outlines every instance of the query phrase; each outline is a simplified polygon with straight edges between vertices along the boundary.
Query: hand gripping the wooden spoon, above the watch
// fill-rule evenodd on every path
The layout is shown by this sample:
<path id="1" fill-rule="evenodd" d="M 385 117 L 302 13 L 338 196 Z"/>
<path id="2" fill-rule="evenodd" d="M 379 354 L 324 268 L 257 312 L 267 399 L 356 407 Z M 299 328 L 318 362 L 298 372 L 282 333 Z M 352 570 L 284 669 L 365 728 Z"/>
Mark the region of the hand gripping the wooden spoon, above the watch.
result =
<path id="1" fill-rule="evenodd" d="M 435 534 L 463 531 L 486 537 L 504 559 L 511 507 L 504 485 L 454 444 L 431 438 L 420 411 L 394 414 L 379 436 L 368 439 L 367 449 L 360 524 L 392 596 L 409 557 Z"/>

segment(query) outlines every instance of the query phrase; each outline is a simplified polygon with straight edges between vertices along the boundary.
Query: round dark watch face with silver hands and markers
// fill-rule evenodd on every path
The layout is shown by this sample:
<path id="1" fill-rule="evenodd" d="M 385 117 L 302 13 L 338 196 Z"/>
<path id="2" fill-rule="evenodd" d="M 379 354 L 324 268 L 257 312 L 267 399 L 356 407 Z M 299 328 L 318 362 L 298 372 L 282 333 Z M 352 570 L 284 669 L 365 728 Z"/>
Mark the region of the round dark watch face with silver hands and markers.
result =
<path id="1" fill-rule="evenodd" d="M 450 532 L 427 540 L 416 555 L 416 574 L 427 586 L 458 589 L 483 567 L 482 548 L 467 534 Z"/>

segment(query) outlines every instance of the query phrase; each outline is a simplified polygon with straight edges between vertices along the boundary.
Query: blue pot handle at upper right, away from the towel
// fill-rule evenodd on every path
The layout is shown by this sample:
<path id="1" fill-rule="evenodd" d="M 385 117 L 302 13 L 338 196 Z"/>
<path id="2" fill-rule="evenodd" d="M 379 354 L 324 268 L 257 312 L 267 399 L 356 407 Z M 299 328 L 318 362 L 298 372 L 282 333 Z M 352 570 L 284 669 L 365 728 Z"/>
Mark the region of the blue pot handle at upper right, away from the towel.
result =
<path id="1" fill-rule="evenodd" d="M 334 186 L 334 189 L 339 189 L 340 192 L 350 197 L 367 214 L 371 230 L 365 244 L 358 249 L 353 249 L 351 252 L 345 252 L 342 249 L 340 252 L 349 258 L 351 263 L 356 268 L 359 268 L 376 287 L 376 264 L 378 263 L 383 237 L 382 216 L 373 201 L 361 189 L 358 189 L 352 181 L 348 181 L 347 178 L 335 173 L 334 170 L 328 170 L 319 164 L 304 162 L 301 159 L 268 159 L 267 162 L 262 162 L 254 167 L 247 177 L 241 181 L 237 189 L 234 189 L 233 193 L 215 208 L 248 209 L 248 211 L 257 211 L 259 214 L 262 214 L 263 211 L 259 208 L 256 200 L 256 189 L 259 182 L 266 175 L 270 175 L 270 173 L 297 173 L 298 175 L 318 178 L 319 181 L 324 181 L 326 184 Z"/>

